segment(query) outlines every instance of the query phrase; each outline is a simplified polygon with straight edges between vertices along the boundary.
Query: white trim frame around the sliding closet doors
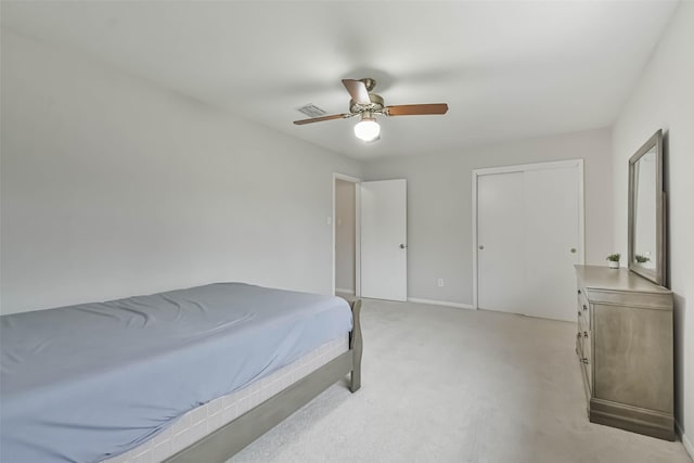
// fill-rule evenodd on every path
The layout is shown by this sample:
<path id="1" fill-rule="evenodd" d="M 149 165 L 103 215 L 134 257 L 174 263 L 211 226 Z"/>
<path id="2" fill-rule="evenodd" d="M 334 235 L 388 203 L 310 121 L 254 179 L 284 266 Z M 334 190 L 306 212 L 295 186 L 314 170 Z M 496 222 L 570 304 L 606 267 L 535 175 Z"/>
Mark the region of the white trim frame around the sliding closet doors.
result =
<path id="1" fill-rule="evenodd" d="M 478 243 L 477 243 L 477 181 L 479 177 L 497 173 L 524 172 L 526 170 L 555 169 L 560 167 L 578 167 L 578 263 L 586 261 L 586 209 L 583 198 L 583 159 L 551 160 L 547 163 L 518 164 L 515 166 L 487 167 L 473 169 L 473 309 L 478 309 Z"/>

